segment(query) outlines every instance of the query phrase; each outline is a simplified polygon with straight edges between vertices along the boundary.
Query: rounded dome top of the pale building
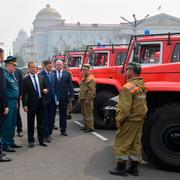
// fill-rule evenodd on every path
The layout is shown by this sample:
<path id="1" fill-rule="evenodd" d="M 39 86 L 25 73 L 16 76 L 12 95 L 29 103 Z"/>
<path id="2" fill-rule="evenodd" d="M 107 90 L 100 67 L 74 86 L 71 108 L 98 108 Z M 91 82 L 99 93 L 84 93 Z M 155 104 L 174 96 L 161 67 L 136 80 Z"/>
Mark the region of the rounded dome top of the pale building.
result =
<path id="1" fill-rule="evenodd" d="M 52 8 L 50 4 L 47 4 L 46 7 L 36 15 L 36 18 L 43 18 L 43 17 L 61 18 L 61 15 L 54 8 Z"/>

